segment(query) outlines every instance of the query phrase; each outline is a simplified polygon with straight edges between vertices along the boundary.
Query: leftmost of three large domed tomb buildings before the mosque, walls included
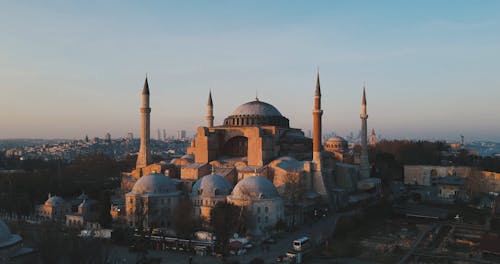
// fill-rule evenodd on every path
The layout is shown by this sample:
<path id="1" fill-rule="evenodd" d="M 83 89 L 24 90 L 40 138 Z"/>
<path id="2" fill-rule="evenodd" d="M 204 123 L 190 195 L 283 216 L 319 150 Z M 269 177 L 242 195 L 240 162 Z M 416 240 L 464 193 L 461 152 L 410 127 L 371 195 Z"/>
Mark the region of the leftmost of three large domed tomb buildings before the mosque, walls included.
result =
<path id="1" fill-rule="evenodd" d="M 137 226 L 142 221 L 144 227 L 171 227 L 180 197 L 176 182 L 168 176 L 152 173 L 139 178 L 125 194 L 127 224 Z"/>

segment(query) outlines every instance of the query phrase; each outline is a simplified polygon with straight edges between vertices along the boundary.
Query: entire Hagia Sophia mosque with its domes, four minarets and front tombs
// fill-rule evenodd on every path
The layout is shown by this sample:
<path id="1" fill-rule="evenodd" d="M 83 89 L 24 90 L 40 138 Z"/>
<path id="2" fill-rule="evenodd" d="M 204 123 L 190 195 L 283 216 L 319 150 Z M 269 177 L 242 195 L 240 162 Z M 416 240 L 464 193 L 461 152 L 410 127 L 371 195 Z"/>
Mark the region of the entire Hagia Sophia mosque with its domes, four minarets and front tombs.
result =
<path id="1" fill-rule="evenodd" d="M 222 124 L 214 125 L 214 103 L 208 96 L 206 124 L 197 129 L 186 154 L 169 162 L 152 162 L 149 84 L 142 89 L 141 143 L 136 168 L 122 173 L 124 202 L 114 204 L 116 220 L 134 227 L 173 228 L 173 209 L 189 197 L 195 215 L 210 223 L 219 202 L 245 208 L 252 224 L 248 233 L 259 237 L 280 220 L 301 224 L 304 215 L 320 206 L 336 210 L 380 190 L 370 177 L 366 94 L 361 104 L 361 153 L 349 150 L 341 137 L 322 143 L 319 73 L 314 90 L 312 139 L 273 105 L 255 98 L 237 107 Z M 375 140 L 374 131 L 370 143 Z M 290 210 L 291 204 L 299 210 Z"/>

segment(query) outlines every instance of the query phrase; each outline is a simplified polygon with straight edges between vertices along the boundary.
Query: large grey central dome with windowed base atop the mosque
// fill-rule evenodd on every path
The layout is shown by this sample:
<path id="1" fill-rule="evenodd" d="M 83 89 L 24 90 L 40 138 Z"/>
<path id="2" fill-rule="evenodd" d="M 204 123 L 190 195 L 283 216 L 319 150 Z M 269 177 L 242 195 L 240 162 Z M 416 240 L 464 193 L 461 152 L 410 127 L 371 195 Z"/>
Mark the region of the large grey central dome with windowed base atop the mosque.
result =
<path id="1" fill-rule="evenodd" d="M 289 127 L 289 121 L 276 107 L 256 98 L 255 101 L 238 106 L 232 115 L 224 119 L 224 126 Z"/>

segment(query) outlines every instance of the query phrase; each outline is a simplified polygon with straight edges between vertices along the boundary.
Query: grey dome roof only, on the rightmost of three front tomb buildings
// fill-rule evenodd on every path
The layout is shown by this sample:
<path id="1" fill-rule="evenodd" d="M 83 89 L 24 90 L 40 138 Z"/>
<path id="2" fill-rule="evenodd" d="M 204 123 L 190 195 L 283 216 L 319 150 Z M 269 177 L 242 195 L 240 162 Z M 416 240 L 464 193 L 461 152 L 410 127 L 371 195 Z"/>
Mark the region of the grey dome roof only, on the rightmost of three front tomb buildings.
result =
<path id="1" fill-rule="evenodd" d="M 274 184 L 263 176 L 248 176 L 234 186 L 232 198 L 260 200 L 279 197 Z"/>

